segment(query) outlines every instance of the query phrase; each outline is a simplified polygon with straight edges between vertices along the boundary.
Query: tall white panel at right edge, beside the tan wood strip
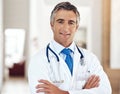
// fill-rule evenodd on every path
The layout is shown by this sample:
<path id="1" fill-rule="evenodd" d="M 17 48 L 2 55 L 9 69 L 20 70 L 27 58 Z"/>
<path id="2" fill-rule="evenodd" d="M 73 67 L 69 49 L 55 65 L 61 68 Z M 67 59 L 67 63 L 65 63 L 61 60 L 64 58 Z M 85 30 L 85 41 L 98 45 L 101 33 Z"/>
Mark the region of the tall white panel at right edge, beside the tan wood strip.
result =
<path id="1" fill-rule="evenodd" d="M 120 69 L 120 0 L 111 0 L 110 66 Z"/>

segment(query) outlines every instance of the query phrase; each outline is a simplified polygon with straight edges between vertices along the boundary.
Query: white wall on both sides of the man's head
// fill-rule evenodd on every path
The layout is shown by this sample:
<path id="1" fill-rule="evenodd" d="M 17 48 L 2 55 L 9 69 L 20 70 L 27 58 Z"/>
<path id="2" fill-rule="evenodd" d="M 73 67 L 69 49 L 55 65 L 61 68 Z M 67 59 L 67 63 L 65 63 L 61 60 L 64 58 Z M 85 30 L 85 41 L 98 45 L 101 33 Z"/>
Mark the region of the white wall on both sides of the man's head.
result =
<path id="1" fill-rule="evenodd" d="M 39 47 L 44 47 L 51 39 L 52 39 L 52 31 L 49 25 L 49 17 L 51 13 L 51 8 L 60 1 L 66 0 L 31 0 L 34 2 L 34 5 L 31 3 L 31 24 L 30 27 L 32 30 L 31 38 L 34 34 L 39 38 Z M 91 9 L 91 18 L 88 21 L 89 32 L 88 32 L 88 49 L 93 51 L 101 61 L 101 51 L 102 51 L 102 0 L 69 0 L 70 2 L 74 3 L 78 7 L 89 7 Z M 43 10 L 44 9 L 44 10 Z M 87 15 L 87 16 L 90 16 Z"/>

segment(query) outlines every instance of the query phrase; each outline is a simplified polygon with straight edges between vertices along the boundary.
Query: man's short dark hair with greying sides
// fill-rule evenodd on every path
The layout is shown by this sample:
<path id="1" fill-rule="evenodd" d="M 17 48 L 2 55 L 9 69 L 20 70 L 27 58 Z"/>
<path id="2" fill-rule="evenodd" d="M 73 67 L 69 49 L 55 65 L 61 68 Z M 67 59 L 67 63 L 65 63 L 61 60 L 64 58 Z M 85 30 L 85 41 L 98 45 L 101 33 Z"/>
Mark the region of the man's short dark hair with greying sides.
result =
<path id="1" fill-rule="evenodd" d="M 77 17 L 77 25 L 79 25 L 80 14 L 79 14 L 77 8 L 74 5 L 72 5 L 70 2 L 61 2 L 61 3 L 58 3 L 54 7 L 54 9 L 51 12 L 51 16 L 50 16 L 50 22 L 51 23 L 53 23 L 53 21 L 54 21 L 54 17 L 55 17 L 56 12 L 61 10 L 61 9 L 68 10 L 68 11 L 73 11 L 76 14 L 76 17 Z"/>

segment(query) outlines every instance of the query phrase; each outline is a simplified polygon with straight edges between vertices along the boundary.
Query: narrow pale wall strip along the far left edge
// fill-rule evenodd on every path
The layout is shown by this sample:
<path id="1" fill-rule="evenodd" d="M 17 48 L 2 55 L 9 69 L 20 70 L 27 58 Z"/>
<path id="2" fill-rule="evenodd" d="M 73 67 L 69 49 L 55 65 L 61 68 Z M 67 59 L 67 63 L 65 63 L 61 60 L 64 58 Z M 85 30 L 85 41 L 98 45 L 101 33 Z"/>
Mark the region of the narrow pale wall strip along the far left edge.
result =
<path id="1" fill-rule="evenodd" d="M 3 81 L 3 29 L 2 29 L 2 0 L 0 0 L 0 91 Z"/>

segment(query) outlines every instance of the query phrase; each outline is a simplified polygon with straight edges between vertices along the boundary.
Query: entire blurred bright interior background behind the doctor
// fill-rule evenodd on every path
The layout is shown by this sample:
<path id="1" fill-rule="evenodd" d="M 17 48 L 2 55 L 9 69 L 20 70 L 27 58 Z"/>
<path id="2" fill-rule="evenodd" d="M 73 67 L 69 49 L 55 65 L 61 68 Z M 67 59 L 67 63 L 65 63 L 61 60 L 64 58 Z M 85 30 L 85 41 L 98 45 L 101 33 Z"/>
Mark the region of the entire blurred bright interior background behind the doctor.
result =
<path id="1" fill-rule="evenodd" d="M 65 0 L 0 0 L 0 94 L 30 94 L 29 59 L 52 40 L 53 7 Z M 78 7 L 74 40 L 97 55 L 120 94 L 120 1 L 68 0 Z"/>

